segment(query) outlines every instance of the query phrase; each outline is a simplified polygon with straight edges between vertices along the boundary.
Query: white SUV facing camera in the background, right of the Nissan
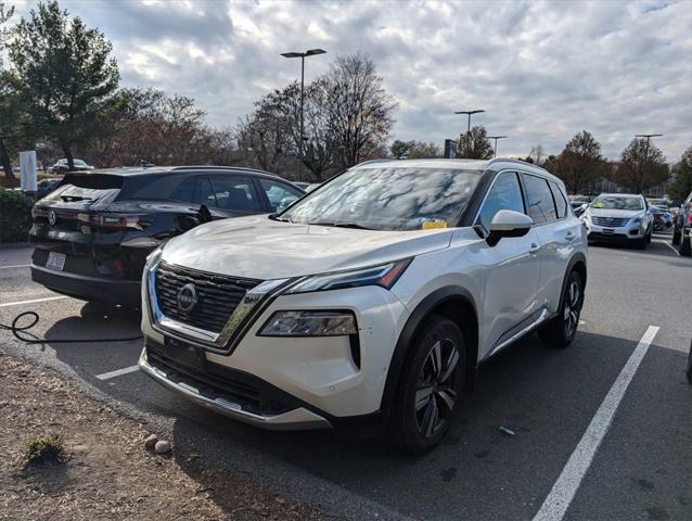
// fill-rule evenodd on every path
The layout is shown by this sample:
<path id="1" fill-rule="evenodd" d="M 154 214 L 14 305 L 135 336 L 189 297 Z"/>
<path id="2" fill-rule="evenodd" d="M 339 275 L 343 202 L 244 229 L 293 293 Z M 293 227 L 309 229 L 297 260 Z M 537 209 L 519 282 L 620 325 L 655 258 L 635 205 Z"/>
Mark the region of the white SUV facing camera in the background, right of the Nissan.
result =
<path id="1" fill-rule="evenodd" d="M 642 250 L 651 242 L 653 217 L 646 200 L 633 193 L 602 193 L 581 216 L 589 242 L 635 244 Z"/>

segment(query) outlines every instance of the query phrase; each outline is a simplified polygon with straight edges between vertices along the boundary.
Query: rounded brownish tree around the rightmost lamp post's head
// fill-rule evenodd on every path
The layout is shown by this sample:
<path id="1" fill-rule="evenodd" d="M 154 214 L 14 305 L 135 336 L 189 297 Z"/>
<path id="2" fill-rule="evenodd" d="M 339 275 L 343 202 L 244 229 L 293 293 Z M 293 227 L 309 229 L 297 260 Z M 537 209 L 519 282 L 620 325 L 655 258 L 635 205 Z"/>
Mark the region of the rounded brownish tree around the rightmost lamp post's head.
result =
<path id="1" fill-rule="evenodd" d="M 669 176 L 670 169 L 661 149 L 645 138 L 635 138 L 620 155 L 614 180 L 635 193 L 645 193 Z"/>

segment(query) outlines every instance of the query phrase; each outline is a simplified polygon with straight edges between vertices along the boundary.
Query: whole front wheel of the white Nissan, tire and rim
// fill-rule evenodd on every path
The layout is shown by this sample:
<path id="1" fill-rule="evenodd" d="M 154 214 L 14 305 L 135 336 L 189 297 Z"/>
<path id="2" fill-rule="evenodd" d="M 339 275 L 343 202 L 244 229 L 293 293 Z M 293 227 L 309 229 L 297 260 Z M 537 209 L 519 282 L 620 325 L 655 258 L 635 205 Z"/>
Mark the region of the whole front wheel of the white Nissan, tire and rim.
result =
<path id="1" fill-rule="evenodd" d="M 428 318 L 401 369 L 389 424 L 396 446 L 420 455 L 443 440 L 464 386 L 465 360 L 459 326 L 445 317 Z"/>

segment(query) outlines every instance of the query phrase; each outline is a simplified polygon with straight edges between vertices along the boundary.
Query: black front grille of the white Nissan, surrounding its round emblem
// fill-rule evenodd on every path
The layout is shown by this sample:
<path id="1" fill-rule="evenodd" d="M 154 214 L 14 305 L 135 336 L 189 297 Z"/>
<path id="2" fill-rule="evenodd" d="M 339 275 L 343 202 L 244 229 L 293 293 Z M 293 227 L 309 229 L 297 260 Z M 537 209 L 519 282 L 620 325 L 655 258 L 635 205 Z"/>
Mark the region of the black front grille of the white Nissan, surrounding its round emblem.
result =
<path id="1" fill-rule="evenodd" d="M 156 268 L 155 293 L 166 317 L 220 333 L 247 290 L 260 282 L 161 263 Z M 178 306 L 178 293 L 189 283 L 195 288 L 197 302 L 190 312 L 184 312 Z"/>

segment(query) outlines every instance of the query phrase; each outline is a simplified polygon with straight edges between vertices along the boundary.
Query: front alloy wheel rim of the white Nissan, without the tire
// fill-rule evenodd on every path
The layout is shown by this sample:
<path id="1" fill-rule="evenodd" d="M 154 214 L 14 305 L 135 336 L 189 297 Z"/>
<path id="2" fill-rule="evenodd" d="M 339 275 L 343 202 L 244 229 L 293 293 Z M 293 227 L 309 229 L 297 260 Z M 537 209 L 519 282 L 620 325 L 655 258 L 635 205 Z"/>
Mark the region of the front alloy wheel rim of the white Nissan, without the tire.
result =
<path id="1" fill-rule="evenodd" d="M 415 422 L 424 437 L 433 437 L 451 416 L 457 402 L 459 348 L 451 339 L 431 347 L 415 389 Z"/>

